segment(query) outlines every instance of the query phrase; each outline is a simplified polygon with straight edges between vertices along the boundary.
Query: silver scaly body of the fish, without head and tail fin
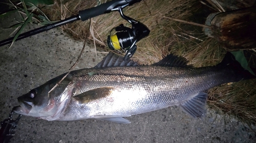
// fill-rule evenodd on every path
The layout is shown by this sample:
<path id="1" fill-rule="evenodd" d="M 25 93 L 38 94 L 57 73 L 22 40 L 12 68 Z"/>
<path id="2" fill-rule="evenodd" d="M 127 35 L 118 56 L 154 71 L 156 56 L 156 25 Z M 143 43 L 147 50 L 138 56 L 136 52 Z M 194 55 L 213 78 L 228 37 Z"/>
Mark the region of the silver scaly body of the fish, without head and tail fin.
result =
<path id="1" fill-rule="evenodd" d="M 59 120 L 136 115 L 179 105 L 200 92 L 224 83 L 223 73 L 209 75 L 214 69 L 200 70 L 143 66 L 89 69 L 79 71 L 83 74 L 77 77 L 78 74 L 71 73 L 76 93 Z M 202 71 L 203 74 L 196 74 Z M 95 74 L 90 76 L 90 72 Z M 80 97 L 81 93 L 86 95 Z"/>

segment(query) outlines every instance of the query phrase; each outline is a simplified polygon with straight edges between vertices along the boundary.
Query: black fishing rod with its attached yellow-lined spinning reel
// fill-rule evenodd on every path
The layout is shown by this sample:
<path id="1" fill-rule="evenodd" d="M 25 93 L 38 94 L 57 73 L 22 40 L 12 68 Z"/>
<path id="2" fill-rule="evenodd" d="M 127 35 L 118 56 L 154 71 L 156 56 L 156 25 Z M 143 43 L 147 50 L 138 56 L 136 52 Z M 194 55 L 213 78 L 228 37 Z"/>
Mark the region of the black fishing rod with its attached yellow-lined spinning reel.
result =
<path id="1" fill-rule="evenodd" d="M 108 38 L 108 45 L 112 45 L 112 46 L 110 46 L 110 49 L 113 49 L 113 50 L 122 49 L 124 52 L 126 52 L 126 55 L 124 57 L 124 61 L 126 61 L 126 60 L 130 59 L 131 56 L 136 51 L 135 43 L 150 33 L 150 31 L 145 26 L 143 26 L 143 24 L 141 24 L 140 22 L 138 22 L 130 17 L 125 16 L 122 13 L 122 9 L 124 7 L 131 6 L 140 1 L 141 0 L 113 0 L 111 2 L 104 3 L 104 4 L 94 7 L 94 8 L 79 11 L 78 15 L 75 15 L 75 16 L 66 18 L 64 20 L 60 20 L 58 22 L 55 22 L 55 23 L 52 23 L 49 25 L 45 25 L 45 26 L 36 28 L 35 30 L 31 30 L 29 32 L 20 34 L 16 38 L 15 41 L 30 37 L 32 35 L 35 35 L 35 34 L 38 34 L 41 32 L 48 31 L 52 28 L 55 28 L 55 27 L 58 27 L 58 26 L 61 26 L 61 25 L 67 24 L 67 23 L 71 23 L 71 22 L 74 22 L 77 20 L 85 21 L 85 20 L 88 20 L 89 18 L 96 17 L 101 14 L 110 13 L 111 11 L 118 11 L 118 12 L 120 12 L 122 18 L 124 18 L 125 20 L 129 21 L 132 24 L 132 28 L 128 28 L 128 27 L 124 27 L 124 26 L 122 26 L 121 28 L 119 27 L 119 32 L 120 31 L 123 31 L 123 32 L 119 33 L 118 34 L 119 36 L 115 37 L 115 38 L 119 38 L 120 35 L 121 35 L 121 38 L 118 39 L 119 41 L 113 40 L 114 39 L 113 36 L 111 39 Z M 141 27 L 144 27 L 143 30 L 146 30 L 146 31 L 141 32 L 141 30 L 139 30 L 139 28 L 141 28 Z M 118 32 L 117 29 L 118 28 L 116 28 L 116 31 Z M 127 35 L 126 33 L 129 34 L 128 37 L 122 36 L 123 34 Z M 6 40 L 0 41 L 0 46 L 12 43 L 13 39 L 14 39 L 14 37 L 11 37 Z M 114 43 L 115 46 L 113 46 L 112 43 Z M 117 44 L 115 44 L 115 43 L 117 43 Z M 126 47 L 123 47 L 123 43 L 125 44 Z M 131 45 L 127 45 L 127 43 L 129 43 Z M 120 47 L 117 47 L 117 45 L 119 46 L 119 44 L 120 44 Z"/>

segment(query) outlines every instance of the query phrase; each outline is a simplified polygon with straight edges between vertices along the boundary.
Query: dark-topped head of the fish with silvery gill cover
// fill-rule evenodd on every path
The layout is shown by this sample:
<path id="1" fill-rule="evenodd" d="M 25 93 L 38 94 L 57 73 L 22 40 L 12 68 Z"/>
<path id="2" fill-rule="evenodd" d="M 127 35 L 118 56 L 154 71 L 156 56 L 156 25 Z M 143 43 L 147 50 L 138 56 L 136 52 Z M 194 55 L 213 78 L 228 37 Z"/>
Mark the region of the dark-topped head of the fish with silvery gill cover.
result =
<path id="1" fill-rule="evenodd" d="M 63 80 L 57 87 L 53 88 L 58 81 L 52 79 L 18 97 L 20 106 L 14 107 L 13 111 L 20 115 L 48 121 L 56 120 L 73 94 L 73 84 L 69 80 Z"/>

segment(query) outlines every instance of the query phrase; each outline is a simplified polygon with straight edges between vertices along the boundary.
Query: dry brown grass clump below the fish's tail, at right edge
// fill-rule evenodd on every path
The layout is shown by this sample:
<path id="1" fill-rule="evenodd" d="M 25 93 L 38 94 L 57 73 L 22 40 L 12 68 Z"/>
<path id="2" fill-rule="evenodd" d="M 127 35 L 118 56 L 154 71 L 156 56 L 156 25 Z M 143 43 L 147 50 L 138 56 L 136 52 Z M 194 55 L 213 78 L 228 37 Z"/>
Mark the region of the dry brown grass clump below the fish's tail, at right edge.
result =
<path id="1" fill-rule="evenodd" d="M 256 80 L 224 84 L 209 90 L 208 104 L 246 123 L 256 121 Z"/>

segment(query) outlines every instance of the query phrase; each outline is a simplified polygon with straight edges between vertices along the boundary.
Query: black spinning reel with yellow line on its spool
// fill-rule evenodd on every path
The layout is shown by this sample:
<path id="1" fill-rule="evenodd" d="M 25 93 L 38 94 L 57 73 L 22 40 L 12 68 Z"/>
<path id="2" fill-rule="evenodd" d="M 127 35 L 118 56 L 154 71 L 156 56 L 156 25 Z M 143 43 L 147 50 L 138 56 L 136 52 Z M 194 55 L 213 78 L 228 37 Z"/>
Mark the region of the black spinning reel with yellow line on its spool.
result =
<path id="1" fill-rule="evenodd" d="M 124 55 L 123 61 L 127 61 L 133 56 L 137 49 L 136 42 L 148 36 L 150 34 L 150 30 L 148 30 L 148 28 L 139 21 L 125 16 L 122 12 L 122 8 L 123 7 L 119 7 L 113 10 L 117 10 L 123 19 L 130 22 L 132 24 L 132 28 L 125 27 L 123 24 L 112 28 L 110 35 L 107 38 L 107 43 L 111 50 L 125 52 L 126 54 Z M 116 34 L 111 35 L 114 29 Z"/>

